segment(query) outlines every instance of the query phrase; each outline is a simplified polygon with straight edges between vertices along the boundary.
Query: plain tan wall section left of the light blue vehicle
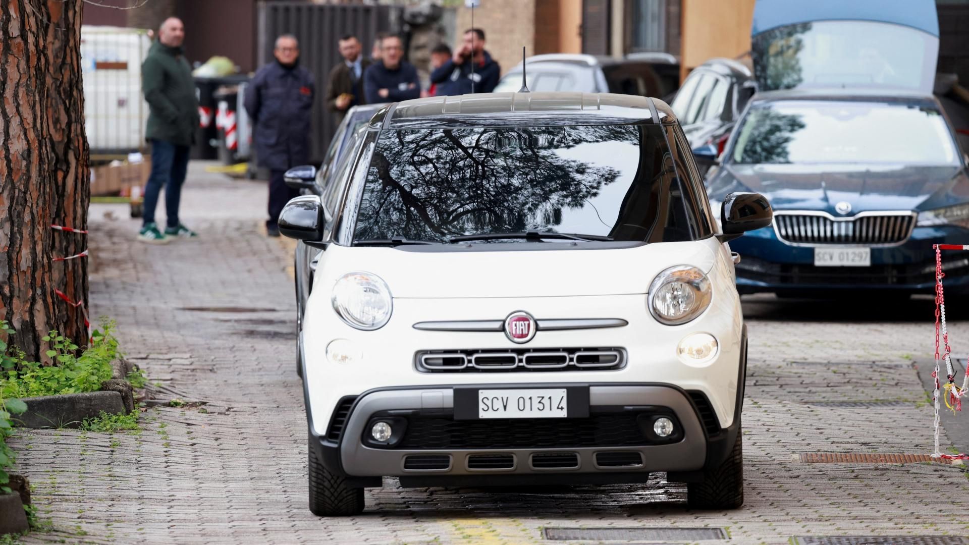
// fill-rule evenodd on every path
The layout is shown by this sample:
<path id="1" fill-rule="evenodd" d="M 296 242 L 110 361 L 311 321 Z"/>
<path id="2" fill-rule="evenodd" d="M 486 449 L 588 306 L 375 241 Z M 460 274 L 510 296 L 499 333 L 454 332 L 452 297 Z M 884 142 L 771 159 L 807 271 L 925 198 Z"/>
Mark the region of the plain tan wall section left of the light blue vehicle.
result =
<path id="1" fill-rule="evenodd" d="M 711 57 L 750 50 L 755 0 L 682 0 L 681 76 Z"/>

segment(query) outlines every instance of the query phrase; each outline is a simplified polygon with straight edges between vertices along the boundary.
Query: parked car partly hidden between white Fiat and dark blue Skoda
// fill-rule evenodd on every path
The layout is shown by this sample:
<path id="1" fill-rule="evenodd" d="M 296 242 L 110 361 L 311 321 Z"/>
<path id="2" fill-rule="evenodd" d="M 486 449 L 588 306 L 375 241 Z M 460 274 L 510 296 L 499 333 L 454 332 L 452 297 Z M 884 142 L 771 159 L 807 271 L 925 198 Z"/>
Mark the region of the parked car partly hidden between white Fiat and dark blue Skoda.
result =
<path id="1" fill-rule="evenodd" d="M 683 80 L 670 107 L 703 173 L 723 153 L 737 118 L 756 91 L 750 68 L 726 58 L 704 62 Z"/>

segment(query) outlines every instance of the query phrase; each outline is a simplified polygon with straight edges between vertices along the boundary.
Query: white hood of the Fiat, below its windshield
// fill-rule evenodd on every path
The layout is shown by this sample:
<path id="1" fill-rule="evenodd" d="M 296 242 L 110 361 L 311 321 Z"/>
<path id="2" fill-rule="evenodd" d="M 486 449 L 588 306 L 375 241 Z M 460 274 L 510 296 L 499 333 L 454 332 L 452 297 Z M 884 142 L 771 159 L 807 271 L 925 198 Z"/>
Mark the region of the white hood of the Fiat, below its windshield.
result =
<path id="1" fill-rule="evenodd" d="M 520 245 L 560 243 L 569 242 Z M 625 248 L 531 251 L 331 245 L 320 259 L 314 289 L 329 289 L 341 275 L 363 271 L 383 278 L 394 299 L 644 294 L 656 274 L 675 265 L 693 265 L 709 272 L 715 260 L 713 249 L 718 247 L 712 238 Z"/>

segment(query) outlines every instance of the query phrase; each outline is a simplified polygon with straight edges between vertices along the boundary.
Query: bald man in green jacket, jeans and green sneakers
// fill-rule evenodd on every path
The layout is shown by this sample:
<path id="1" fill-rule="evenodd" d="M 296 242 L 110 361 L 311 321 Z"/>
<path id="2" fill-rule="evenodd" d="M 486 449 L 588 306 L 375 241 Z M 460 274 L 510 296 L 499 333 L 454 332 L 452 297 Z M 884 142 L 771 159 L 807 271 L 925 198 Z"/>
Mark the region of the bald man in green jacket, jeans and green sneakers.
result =
<path id="1" fill-rule="evenodd" d="M 152 44 L 141 64 L 141 90 L 149 111 L 145 138 L 151 144 L 151 174 L 144 188 L 144 223 L 138 235 L 143 242 L 159 244 L 173 238 L 198 237 L 178 221 L 189 146 L 199 126 L 195 82 L 181 48 L 184 39 L 182 21 L 175 17 L 166 19 L 158 29 L 158 42 Z M 162 187 L 168 225 L 164 233 L 155 224 Z"/>

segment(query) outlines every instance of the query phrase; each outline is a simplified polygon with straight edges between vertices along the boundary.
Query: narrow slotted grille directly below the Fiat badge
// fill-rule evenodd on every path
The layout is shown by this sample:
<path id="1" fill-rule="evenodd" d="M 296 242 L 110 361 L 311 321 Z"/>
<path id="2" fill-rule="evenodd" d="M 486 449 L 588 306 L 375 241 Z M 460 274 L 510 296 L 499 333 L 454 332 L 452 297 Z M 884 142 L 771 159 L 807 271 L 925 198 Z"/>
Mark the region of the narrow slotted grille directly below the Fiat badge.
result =
<path id="1" fill-rule="evenodd" d="M 422 372 L 612 370 L 626 365 L 622 348 L 427 350 L 415 356 Z"/>

